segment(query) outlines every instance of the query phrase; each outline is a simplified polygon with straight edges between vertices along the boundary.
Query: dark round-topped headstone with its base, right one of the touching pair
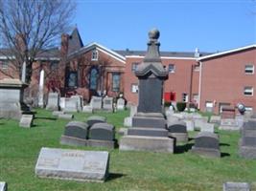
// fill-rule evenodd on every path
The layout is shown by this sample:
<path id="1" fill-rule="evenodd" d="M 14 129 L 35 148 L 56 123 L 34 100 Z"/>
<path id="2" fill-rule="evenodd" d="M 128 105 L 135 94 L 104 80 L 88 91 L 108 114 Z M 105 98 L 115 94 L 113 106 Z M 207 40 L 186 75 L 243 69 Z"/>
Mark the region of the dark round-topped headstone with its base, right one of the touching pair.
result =
<path id="1" fill-rule="evenodd" d="M 95 123 L 90 127 L 88 146 L 115 147 L 115 127 L 107 123 Z"/>

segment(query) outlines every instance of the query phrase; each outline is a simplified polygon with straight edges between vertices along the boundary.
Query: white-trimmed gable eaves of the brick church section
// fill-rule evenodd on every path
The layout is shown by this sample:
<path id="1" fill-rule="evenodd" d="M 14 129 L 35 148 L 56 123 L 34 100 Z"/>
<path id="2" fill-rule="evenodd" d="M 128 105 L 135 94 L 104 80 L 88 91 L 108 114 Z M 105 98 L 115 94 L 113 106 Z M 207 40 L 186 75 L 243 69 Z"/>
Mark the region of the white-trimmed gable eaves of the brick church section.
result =
<path id="1" fill-rule="evenodd" d="M 109 55 L 109 56 L 121 61 L 122 63 L 126 64 L 126 57 L 125 56 L 123 56 L 119 53 L 115 53 L 115 52 L 111 51 L 110 49 L 107 49 L 103 45 L 100 45 L 96 42 L 90 43 L 90 44 L 86 45 L 85 47 L 82 47 L 79 51 L 76 51 L 74 53 L 70 53 L 68 55 L 68 57 L 73 57 L 77 53 L 87 53 L 87 52 L 89 52 L 93 49 L 97 49 L 98 51 L 106 53 L 107 55 Z"/>

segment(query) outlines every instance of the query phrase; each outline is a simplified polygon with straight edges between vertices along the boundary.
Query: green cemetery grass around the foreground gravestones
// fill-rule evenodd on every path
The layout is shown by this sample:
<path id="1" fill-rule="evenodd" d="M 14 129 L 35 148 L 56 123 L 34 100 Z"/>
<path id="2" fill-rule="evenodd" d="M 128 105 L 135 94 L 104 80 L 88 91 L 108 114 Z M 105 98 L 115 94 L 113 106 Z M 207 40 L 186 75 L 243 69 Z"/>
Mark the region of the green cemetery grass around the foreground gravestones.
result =
<path id="1" fill-rule="evenodd" d="M 97 113 L 107 121 L 123 126 L 128 111 L 115 114 Z M 87 114 L 75 114 L 85 121 Z M 105 183 L 71 180 L 39 179 L 35 177 L 35 162 L 41 147 L 105 150 L 72 147 L 59 144 L 67 120 L 52 117 L 49 111 L 36 110 L 31 129 L 18 126 L 18 121 L 0 120 L 0 181 L 7 181 L 10 191 L 84 191 L 84 190 L 222 190 L 225 181 L 247 181 L 256 190 L 256 159 L 238 156 L 239 132 L 218 132 L 221 138 L 221 159 L 206 159 L 188 151 L 188 145 L 178 145 L 175 154 L 128 152 L 106 149 L 110 154 L 109 178 Z M 117 136 L 117 138 L 119 138 Z"/>

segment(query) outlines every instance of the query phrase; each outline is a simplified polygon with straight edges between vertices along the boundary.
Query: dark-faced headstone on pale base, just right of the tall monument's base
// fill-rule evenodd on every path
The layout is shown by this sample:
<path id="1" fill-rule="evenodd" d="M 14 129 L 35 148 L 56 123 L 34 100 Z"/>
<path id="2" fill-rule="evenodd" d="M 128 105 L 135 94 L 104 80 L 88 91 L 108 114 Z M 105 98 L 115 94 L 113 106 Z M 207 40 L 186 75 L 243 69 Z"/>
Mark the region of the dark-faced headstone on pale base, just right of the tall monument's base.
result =
<path id="1" fill-rule="evenodd" d="M 176 121 L 168 125 L 168 136 L 175 138 L 176 142 L 187 142 L 188 132 L 184 121 Z"/>

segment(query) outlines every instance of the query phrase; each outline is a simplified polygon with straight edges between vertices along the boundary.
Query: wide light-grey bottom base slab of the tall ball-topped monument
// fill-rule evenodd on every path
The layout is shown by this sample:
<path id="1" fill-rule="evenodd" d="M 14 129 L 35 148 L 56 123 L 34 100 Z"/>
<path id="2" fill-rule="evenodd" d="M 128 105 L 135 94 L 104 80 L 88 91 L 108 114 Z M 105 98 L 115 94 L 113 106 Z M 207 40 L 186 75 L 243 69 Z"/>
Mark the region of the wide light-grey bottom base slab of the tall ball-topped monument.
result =
<path id="1" fill-rule="evenodd" d="M 120 140 L 119 149 L 123 151 L 174 153 L 174 142 L 173 138 L 124 136 Z"/>

